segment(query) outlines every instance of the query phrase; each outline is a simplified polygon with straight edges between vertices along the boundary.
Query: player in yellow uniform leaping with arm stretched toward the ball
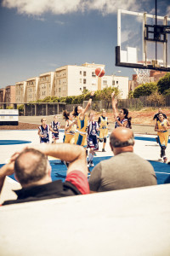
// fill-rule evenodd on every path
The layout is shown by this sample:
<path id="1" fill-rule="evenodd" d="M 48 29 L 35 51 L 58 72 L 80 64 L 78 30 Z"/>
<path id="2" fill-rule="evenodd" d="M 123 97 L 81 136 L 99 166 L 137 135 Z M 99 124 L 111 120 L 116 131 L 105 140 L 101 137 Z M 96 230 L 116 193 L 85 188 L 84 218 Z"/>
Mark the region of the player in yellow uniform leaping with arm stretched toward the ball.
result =
<path id="1" fill-rule="evenodd" d="M 87 147 L 87 128 L 88 128 L 88 115 L 86 114 L 88 108 L 92 104 L 92 99 L 94 97 L 94 91 L 91 92 L 90 99 L 86 108 L 77 106 L 74 109 L 73 115 L 77 117 L 77 133 L 75 134 L 75 144 L 80 145 L 84 148 Z"/>

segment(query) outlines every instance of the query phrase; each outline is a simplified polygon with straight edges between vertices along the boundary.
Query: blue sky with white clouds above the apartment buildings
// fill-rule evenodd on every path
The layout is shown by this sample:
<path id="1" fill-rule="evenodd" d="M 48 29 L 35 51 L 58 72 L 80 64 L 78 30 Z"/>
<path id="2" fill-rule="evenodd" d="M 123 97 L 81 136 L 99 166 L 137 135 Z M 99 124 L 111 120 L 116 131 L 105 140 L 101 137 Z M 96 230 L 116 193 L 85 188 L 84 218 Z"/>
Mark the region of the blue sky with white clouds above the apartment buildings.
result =
<path id="1" fill-rule="evenodd" d="M 115 66 L 117 9 L 155 14 L 155 0 L 0 0 L 0 88 L 85 62 L 132 79 Z M 170 17 L 169 0 L 157 15 Z"/>

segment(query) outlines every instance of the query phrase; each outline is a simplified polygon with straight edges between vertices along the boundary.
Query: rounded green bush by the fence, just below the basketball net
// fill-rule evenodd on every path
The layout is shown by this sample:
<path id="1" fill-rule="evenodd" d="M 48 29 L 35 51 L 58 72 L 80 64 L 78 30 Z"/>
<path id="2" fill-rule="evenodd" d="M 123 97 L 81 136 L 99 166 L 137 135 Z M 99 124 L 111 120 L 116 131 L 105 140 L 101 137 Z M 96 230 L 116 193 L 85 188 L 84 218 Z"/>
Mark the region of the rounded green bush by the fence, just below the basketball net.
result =
<path id="1" fill-rule="evenodd" d="M 156 83 L 140 84 L 133 90 L 133 97 L 139 98 L 139 96 L 150 96 L 154 91 L 157 90 Z"/>

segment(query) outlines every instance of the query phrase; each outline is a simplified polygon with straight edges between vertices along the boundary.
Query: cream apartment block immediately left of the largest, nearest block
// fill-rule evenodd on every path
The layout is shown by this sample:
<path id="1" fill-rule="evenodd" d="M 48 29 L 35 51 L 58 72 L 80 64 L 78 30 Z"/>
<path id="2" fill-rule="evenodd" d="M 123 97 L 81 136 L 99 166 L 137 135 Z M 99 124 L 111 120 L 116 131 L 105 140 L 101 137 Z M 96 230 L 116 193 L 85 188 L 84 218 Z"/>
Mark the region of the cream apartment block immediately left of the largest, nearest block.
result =
<path id="1" fill-rule="evenodd" d="M 37 97 L 39 100 L 54 96 L 54 72 L 42 73 L 39 76 Z"/>

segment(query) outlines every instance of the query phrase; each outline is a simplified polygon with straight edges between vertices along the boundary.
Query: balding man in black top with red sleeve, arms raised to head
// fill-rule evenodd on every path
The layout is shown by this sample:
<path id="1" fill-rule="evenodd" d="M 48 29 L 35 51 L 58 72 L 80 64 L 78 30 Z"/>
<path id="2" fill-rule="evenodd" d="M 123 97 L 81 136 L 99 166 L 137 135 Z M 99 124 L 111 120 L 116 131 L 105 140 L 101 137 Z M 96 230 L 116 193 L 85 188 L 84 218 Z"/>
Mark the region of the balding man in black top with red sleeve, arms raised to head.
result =
<path id="1" fill-rule="evenodd" d="M 5 201 L 3 205 L 89 193 L 84 148 L 65 143 L 43 143 L 37 149 L 26 148 L 20 154 L 14 154 L 10 163 L 0 169 L 0 191 L 4 178 L 13 172 L 22 187 L 15 191 L 17 200 Z M 61 180 L 52 182 L 48 155 L 70 162 L 65 183 Z"/>

